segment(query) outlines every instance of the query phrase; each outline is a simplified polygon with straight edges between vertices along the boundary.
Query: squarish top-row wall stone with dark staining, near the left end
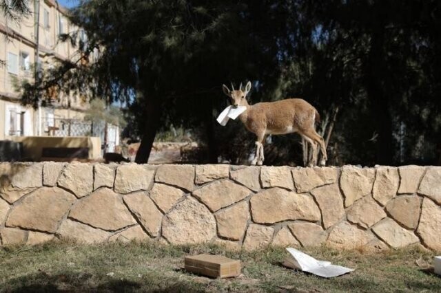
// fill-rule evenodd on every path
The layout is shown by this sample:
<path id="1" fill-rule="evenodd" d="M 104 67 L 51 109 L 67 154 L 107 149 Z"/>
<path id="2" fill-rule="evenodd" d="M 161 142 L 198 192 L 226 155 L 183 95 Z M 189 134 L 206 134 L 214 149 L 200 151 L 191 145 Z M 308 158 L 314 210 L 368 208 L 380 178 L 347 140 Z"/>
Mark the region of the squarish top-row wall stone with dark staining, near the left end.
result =
<path id="1" fill-rule="evenodd" d="M 31 188 L 43 185 L 43 164 L 15 163 L 11 167 L 11 185 L 14 188 Z"/>

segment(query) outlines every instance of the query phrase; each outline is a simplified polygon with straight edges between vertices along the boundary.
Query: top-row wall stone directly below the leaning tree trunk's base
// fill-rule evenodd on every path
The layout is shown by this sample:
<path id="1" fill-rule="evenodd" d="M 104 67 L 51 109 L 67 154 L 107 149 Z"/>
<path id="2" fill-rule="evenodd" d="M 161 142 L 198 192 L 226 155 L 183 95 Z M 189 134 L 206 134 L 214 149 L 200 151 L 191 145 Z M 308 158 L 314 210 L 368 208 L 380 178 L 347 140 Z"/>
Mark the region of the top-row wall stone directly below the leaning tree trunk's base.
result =
<path id="1" fill-rule="evenodd" d="M 117 193 L 131 193 L 132 191 L 146 191 L 150 188 L 154 171 L 139 164 L 123 164 L 116 169 L 115 191 Z"/>

